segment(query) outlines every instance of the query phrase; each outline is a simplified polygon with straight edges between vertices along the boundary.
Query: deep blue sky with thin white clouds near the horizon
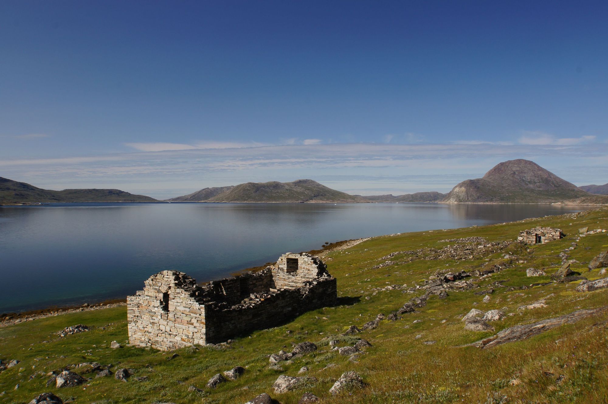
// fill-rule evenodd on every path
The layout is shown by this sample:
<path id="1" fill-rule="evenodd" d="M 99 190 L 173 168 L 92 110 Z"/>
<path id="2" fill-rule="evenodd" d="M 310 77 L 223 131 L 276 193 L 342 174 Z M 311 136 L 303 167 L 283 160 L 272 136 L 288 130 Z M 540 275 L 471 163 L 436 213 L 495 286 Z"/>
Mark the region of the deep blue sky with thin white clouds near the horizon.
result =
<path id="1" fill-rule="evenodd" d="M 172 197 L 608 182 L 608 2 L 0 2 L 0 176 Z"/>

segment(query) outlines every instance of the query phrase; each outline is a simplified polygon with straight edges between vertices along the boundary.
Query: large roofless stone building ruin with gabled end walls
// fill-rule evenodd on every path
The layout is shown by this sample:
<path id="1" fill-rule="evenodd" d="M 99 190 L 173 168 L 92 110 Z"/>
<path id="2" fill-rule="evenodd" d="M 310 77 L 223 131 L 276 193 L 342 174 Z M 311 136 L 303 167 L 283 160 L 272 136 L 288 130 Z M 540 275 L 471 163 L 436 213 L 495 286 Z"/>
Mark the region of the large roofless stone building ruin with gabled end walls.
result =
<path id="1" fill-rule="evenodd" d="M 288 252 L 262 271 L 207 285 L 162 271 L 128 296 L 129 342 L 160 350 L 220 343 L 335 304 L 336 278 L 319 258 Z"/>

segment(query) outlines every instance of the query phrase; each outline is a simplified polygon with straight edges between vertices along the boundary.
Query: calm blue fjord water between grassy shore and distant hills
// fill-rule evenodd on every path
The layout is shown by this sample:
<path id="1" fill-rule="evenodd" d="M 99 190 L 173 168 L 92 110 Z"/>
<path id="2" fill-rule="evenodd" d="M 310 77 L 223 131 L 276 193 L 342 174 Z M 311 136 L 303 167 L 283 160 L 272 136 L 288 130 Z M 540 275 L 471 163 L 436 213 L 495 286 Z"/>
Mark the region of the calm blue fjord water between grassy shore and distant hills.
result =
<path id="1" fill-rule="evenodd" d="M 200 282 L 324 242 L 582 209 L 381 203 L 0 206 L 0 313 L 123 298 L 161 270 L 184 271 Z"/>

